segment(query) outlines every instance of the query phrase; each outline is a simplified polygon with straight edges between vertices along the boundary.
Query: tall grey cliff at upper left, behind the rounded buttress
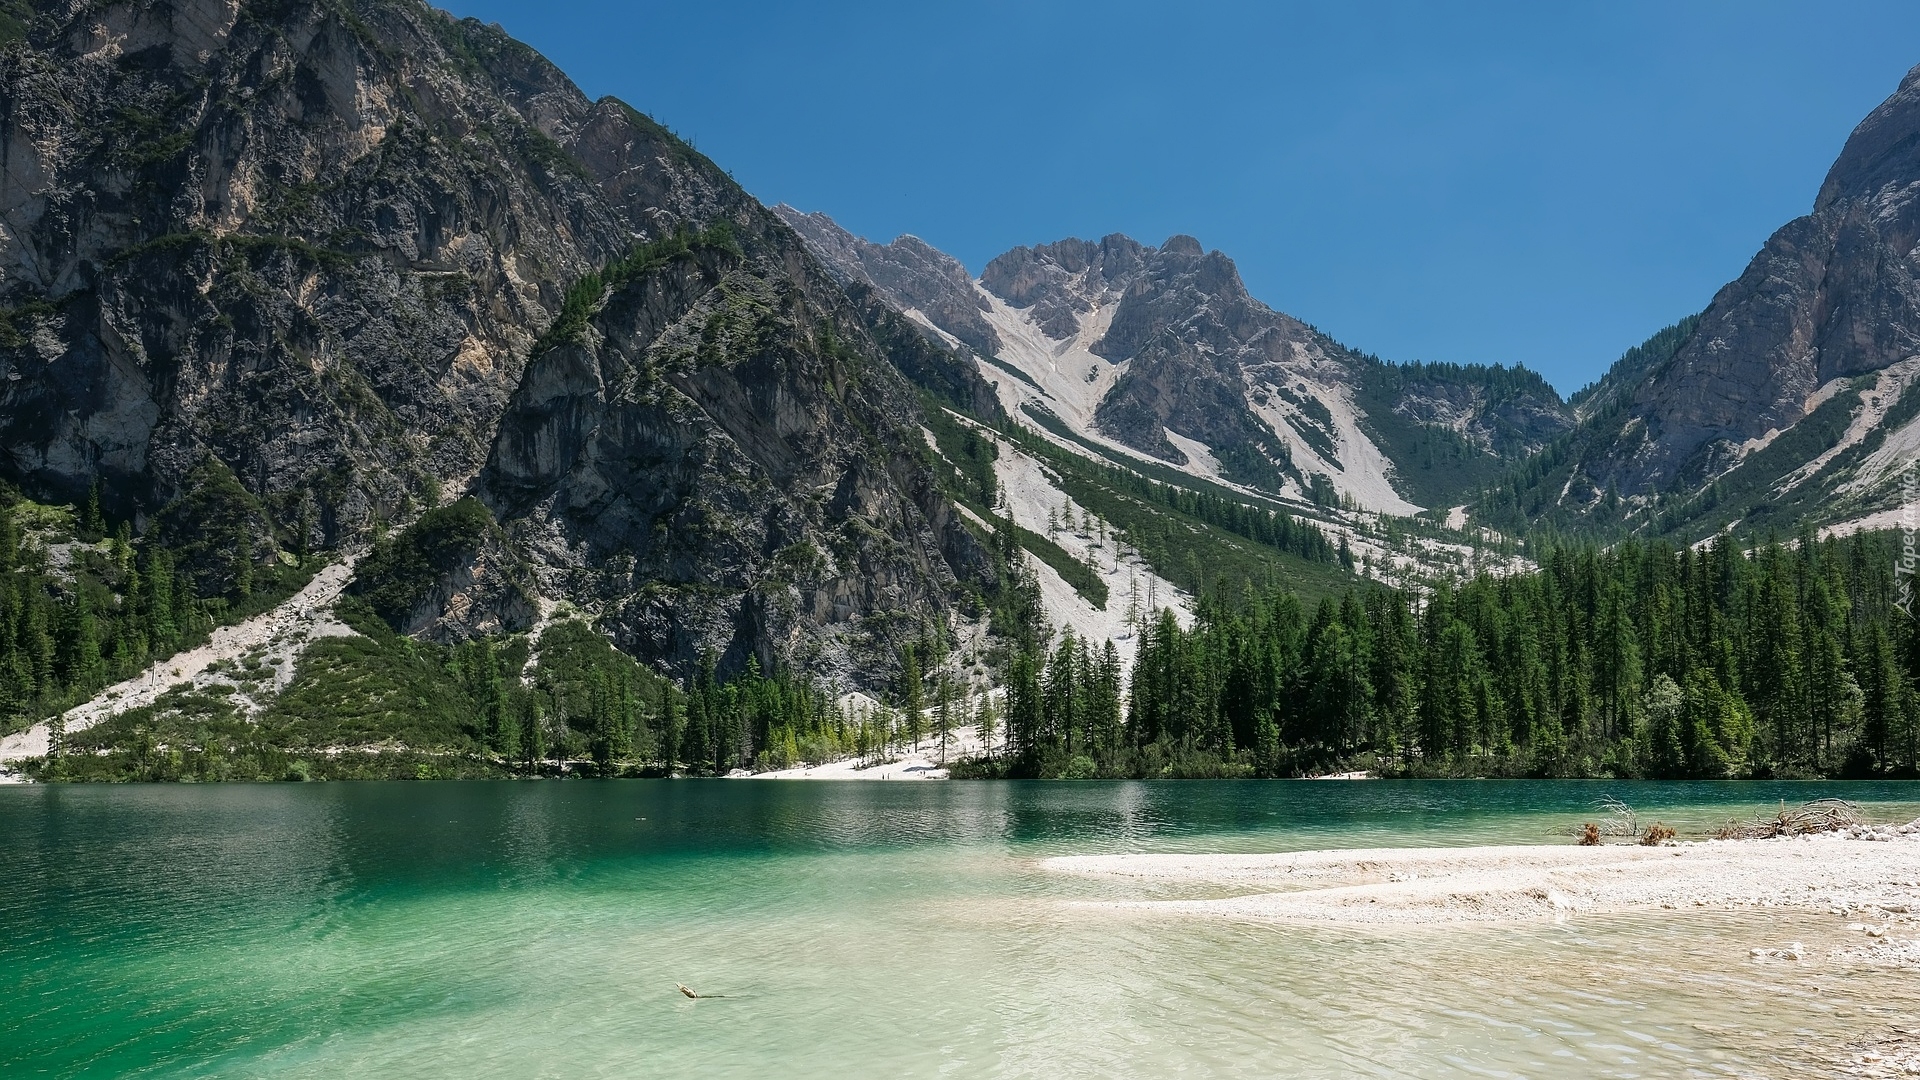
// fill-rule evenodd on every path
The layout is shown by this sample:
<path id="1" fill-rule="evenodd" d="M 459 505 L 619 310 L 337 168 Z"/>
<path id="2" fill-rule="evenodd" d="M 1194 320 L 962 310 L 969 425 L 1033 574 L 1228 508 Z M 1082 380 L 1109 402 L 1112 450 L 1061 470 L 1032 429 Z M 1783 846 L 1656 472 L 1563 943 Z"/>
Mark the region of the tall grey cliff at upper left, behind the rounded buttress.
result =
<path id="1" fill-rule="evenodd" d="M 478 469 L 566 281 L 743 202 L 407 2 L 50 4 L 0 85 L 10 479 L 154 509 L 211 455 L 317 544 Z"/>

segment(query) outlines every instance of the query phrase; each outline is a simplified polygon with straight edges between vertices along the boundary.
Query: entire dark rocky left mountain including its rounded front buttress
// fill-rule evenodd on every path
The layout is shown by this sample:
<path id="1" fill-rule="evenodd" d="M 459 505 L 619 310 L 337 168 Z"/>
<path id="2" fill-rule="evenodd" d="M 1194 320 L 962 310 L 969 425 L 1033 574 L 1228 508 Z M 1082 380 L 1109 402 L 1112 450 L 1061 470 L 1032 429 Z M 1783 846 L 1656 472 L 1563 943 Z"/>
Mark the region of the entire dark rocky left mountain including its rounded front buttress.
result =
<path id="1" fill-rule="evenodd" d="M 324 548 L 472 488 L 549 600 L 649 659 L 939 623 L 948 557 L 979 571 L 893 359 L 954 394 L 977 377 L 497 29 L 413 0 L 46 2 L 0 48 L 0 479 L 33 496 L 98 479 L 109 513 L 165 519 L 219 465 L 261 530 Z M 732 240 L 578 288 L 716 225 Z M 691 350 L 676 367 L 660 334 Z M 801 519 L 868 530 L 843 586 L 745 603 L 774 555 L 829 548 Z M 649 575 L 680 592 L 637 605 Z"/>

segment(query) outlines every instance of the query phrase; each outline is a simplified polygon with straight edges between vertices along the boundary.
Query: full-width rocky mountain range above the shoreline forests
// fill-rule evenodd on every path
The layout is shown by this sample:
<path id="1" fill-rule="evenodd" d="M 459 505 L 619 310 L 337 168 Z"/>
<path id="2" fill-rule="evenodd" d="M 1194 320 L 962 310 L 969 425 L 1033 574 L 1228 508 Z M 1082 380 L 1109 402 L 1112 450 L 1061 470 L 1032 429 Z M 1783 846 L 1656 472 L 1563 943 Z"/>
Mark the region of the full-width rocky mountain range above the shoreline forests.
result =
<path id="1" fill-rule="evenodd" d="M 470 496 L 397 630 L 574 611 L 680 676 L 877 686 L 924 642 L 977 665 L 1029 577 L 1052 626 L 1125 636 L 1229 571 L 1334 592 L 1534 528 L 1887 527 L 1920 454 L 1920 69 L 1807 217 L 1563 400 L 1336 342 L 1192 236 L 975 277 L 766 208 L 413 0 L 0 29 L 0 479 L 205 596 Z"/>

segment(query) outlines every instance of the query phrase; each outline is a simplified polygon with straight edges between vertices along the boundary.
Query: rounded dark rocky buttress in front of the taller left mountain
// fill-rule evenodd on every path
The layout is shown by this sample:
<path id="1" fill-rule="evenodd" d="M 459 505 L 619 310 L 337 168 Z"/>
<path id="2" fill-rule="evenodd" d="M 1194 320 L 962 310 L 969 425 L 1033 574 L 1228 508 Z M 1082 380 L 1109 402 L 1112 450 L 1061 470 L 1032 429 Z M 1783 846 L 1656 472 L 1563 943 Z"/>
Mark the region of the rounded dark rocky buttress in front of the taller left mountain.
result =
<path id="1" fill-rule="evenodd" d="M 764 211 L 597 304 L 536 356 L 482 477 L 545 594 L 674 667 L 862 682 L 937 632 L 956 571 L 989 580 L 881 334 Z"/>

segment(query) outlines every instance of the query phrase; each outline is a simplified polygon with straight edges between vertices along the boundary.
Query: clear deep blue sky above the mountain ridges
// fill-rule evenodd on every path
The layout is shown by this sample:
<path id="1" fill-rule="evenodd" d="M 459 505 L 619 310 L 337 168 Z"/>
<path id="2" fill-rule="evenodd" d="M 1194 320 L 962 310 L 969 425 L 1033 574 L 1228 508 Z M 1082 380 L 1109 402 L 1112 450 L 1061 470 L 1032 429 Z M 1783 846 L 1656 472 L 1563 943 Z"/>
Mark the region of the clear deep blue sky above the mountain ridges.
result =
<path id="1" fill-rule="evenodd" d="M 1563 392 L 1705 307 L 1920 63 L 1910 2 L 449 8 L 768 204 L 975 273 L 1190 233 L 1346 344 Z"/>

